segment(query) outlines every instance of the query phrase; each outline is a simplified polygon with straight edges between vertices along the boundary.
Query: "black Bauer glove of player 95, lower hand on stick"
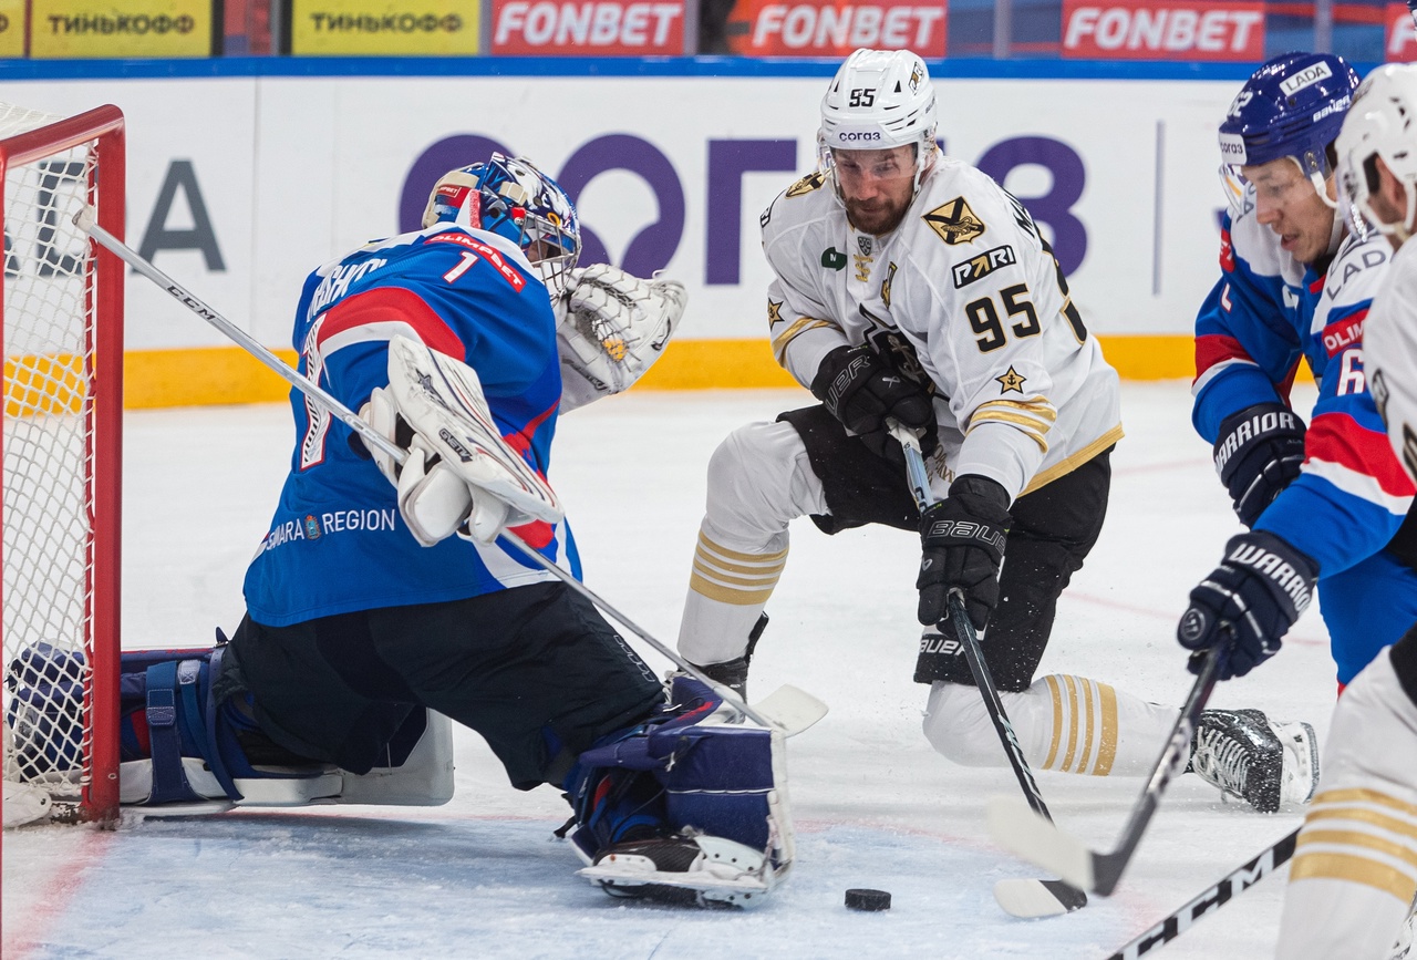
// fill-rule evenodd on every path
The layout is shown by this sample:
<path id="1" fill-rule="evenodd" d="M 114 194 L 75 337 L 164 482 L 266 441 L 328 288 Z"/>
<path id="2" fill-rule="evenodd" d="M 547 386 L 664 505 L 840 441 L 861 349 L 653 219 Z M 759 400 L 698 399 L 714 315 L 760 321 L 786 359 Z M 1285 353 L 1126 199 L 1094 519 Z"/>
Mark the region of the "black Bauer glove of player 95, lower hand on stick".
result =
<path id="1" fill-rule="evenodd" d="M 934 627 L 949 613 L 949 591 L 965 596 L 975 630 L 983 630 L 999 604 L 999 564 L 1009 536 L 1009 493 L 988 476 L 966 475 L 949 485 L 949 496 L 920 516 L 920 610 Z"/>

